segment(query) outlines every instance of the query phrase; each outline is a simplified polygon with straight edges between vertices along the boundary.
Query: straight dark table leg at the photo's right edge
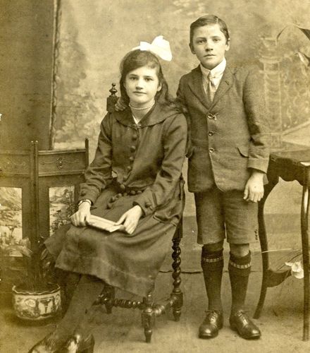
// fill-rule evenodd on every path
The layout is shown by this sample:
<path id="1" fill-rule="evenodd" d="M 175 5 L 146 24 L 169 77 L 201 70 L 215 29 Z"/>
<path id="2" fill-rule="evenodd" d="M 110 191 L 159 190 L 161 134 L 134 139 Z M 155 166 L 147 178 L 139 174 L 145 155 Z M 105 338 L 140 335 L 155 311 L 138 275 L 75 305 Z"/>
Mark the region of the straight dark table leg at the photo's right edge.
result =
<path id="1" fill-rule="evenodd" d="M 304 335 L 302 340 L 309 340 L 309 184 L 302 190 L 302 261 L 304 265 Z"/>

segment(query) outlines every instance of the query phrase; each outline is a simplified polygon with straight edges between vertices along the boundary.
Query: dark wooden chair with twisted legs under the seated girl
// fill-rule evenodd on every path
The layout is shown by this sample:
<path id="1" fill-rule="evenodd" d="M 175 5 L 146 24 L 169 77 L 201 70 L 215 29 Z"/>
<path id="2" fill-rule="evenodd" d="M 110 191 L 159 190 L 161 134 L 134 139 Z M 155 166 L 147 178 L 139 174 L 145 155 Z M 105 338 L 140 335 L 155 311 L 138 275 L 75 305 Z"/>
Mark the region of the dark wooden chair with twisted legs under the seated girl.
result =
<path id="1" fill-rule="evenodd" d="M 114 105 L 118 100 L 116 96 L 116 84 L 112 83 L 112 88 L 109 92 L 111 95 L 107 99 L 106 110 L 108 112 L 113 112 Z M 161 316 L 163 313 L 166 313 L 168 309 L 172 309 L 173 316 L 175 321 L 180 320 L 181 308 L 183 304 L 183 294 L 180 289 L 181 278 L 180 278 L 180 241 L 182 239 L 182 220 L 180 221 L 175 234 L 173 236 L 173 252 L 172 252 L 172 268 L 173 268 L 173 290 L 171 292 L 170 298 L 162 303 L 155 303 L 153 299 L 153 292 L 149 292 L 147 297 L 144 297 L 142 301 L 138 300 L 128 300 L 128 299 L 118 299 L 115 297 L 114 288 L 106 285 L 104 291 L 99 296 L 96 304 L 103 304 L 106 306 L 107 313 L 112 312 L 113 306 L 118 306 L 124 309 L 140 309 L 142 311 L 142 325 L 144 327 L 144 335 L 146 342 L 151 342 L 152 328 L 154 326 L 156 316 Z"/>

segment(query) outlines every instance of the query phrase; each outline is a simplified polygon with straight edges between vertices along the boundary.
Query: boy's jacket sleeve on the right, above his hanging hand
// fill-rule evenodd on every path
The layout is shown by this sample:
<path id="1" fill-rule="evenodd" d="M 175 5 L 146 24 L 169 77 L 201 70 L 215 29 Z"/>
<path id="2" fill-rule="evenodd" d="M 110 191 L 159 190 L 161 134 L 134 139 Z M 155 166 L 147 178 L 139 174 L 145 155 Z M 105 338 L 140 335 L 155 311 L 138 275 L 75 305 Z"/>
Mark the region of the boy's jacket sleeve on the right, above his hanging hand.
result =
<path id="1" fill-rule="evenodd" d="M 261 81 L 258 68 L 249 70 L 244 84 L 243 97 L 251 135 L 248 167 L 266 173 L 271 136 Z"/>

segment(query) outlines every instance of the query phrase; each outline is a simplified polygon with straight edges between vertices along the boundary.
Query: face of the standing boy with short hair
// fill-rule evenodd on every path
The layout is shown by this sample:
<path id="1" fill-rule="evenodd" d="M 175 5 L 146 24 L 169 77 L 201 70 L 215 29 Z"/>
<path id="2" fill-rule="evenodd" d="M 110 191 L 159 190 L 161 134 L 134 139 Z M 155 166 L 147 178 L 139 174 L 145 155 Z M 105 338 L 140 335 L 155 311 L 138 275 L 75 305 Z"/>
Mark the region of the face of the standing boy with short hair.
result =
<path id="1" fill-rule="evenodd" d="M 192 54 L 195 54 L 202 66 L 209 70 L 223 61 L 229 47 L 230 43 L 218 23 L 196 28 L 190 44 Z"/>

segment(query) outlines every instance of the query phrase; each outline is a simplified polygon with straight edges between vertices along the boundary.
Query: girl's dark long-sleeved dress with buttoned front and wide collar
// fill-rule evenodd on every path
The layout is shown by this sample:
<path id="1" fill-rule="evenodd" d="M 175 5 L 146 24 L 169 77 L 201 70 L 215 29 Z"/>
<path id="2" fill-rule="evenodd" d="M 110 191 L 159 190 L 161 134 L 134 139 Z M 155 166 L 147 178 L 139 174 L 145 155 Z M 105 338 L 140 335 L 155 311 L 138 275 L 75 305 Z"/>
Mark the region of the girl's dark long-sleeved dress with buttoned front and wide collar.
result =
<path id="1" fill-rule="evenodd" d="M 131 235 L 73 225 L 58 229 L 45 242 L 56 267 L 145 296 L 154 287 L 184 208 L 186 140 L 185 117 L 158 103 L 139 124 L 130 109 L 107 114 L 80 199 L 92 201 L 92 215 L 109 220 L 117 221 L 134 205 L 144 215 Z"/>

